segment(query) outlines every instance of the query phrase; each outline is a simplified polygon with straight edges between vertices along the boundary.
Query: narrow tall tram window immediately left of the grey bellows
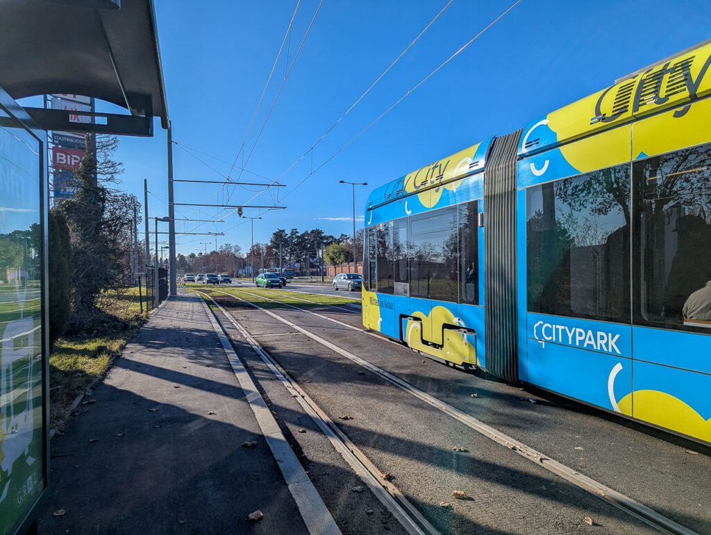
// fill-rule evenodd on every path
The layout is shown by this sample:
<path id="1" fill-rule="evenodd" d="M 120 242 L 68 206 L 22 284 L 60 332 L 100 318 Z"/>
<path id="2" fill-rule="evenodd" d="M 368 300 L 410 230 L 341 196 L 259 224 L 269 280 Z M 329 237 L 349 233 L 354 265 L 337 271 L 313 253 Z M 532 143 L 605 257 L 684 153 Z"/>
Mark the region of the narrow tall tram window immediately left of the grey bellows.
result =
<path id="1" fill-rule="evenodd" d="M 459 205 L 459 302 L 479 304 L 479 203 Z"/>

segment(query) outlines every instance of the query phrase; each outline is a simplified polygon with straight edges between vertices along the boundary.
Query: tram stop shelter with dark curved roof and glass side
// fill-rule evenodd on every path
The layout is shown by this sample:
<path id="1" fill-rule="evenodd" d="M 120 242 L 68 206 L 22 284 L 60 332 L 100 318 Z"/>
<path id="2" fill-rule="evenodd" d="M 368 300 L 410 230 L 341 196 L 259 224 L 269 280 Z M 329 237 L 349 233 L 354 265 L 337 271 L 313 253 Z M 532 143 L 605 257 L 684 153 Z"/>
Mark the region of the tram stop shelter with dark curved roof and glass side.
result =
<path id="1" fill-rule="evenodd" d="M 169 126 L 151 0 L 0 0 L 0 534 L 27 531 L 48 487 L 48 131 L 152 136 Z M 23 107 L 80 95 L 125 113 Z M 93 110 L 93 108 L 92 108 Z"/>

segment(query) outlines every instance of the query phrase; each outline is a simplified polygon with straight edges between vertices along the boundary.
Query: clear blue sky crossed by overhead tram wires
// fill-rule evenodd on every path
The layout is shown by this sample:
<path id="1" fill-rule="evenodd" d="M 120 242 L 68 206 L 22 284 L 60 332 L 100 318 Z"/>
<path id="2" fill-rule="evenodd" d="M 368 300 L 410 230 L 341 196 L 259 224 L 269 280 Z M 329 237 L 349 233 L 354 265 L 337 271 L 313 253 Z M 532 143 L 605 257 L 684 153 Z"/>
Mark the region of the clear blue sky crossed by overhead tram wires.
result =
<path id="1" fill-rule="evenodd" d="M 279 200 L 287 197 L 279 204 L 287 210 L 245 210 L 245 215 L 264 218 L 255 221 L 255 242 L 267 241 L 277 228 L 350 233 L 351 188 L 338 180 L 369 183 L 356 189 L 356 216 L 362 217 L 368 193 L 378 185 L 489 136 L 507 134 L 611 85 L 617 77 L 711 37 L 707 0 L 523 0 L 294 189 L 309 175 L 312 161 L 314 168 L 321 165 L 512 3 L 452 1 L 419 39 L 414 55 L 408 52 L 380 80 L 321 141 L 313 158 L 309 154 L 284 175 L 287 187 L 279 188 Z M 173 148 L 174 178 L 221 180 L 245 136 L 296 0 L 210 1 L 199 4 L 200 9 L 188 0 L 155 4 L 173 139 L 178 143 Z M 274 180 L 286 171 L 445 4 L 325 0 L 241 180 Z M 318 5 L 319 0 L 301 0 L 289 45 L 247 138 L 245 161 L 284 81 L 287 48 L 291 62 Z M 126 168 L 122 187 L 142 202 L 147 178 L 151 217 L 167 215 L 166 132 L 159 122 L 152 139 L 122 139 L 117 159 Z M 176 202 L 242 204 L 252 195 L 216 184 L 176 184 Z M 276 193 L 274 198 L 262 193 L 250 204 L 276 201 Z M 229 211 L 177 207 L 176 217 L 210 219 Z M 219 244 L 239 244 L 243 252 L 250 247 L 249 222 L 236 214 L 224 223 L 179 223 L 176 228 L 225 232 Z M 203 250 L 200 242 L 213 241 L 205 238 L 179 236 L 178 252 Z"/>

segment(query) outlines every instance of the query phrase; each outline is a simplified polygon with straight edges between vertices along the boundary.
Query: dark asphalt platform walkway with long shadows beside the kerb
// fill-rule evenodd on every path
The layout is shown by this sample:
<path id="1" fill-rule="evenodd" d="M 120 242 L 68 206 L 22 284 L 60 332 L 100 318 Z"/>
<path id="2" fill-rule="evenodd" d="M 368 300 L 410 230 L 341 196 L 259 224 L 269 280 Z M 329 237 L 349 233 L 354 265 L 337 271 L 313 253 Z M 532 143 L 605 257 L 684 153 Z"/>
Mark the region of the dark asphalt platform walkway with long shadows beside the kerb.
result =
<path id="1" fill-rule="evenodd" d="M 51 445 L 40 533 L 306 532 L 201 299 L 152 313 L 90 399 Z"/>

